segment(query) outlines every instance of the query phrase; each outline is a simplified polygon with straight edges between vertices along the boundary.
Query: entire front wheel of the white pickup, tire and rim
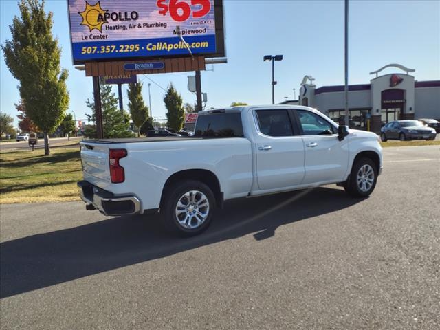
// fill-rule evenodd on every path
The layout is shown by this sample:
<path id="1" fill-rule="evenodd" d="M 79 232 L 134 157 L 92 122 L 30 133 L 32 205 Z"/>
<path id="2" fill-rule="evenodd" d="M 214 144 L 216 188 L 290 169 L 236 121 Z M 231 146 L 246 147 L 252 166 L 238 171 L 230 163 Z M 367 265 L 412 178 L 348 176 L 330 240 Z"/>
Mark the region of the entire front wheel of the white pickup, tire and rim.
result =
<path id="1" fill-rule="evenodd" d="M 370 158 L 363 157 L 353 164 L 350 179 L 344 188 L 353 197 L 367 197 L 373 192 L 376 182 L 376 165 Z"/>

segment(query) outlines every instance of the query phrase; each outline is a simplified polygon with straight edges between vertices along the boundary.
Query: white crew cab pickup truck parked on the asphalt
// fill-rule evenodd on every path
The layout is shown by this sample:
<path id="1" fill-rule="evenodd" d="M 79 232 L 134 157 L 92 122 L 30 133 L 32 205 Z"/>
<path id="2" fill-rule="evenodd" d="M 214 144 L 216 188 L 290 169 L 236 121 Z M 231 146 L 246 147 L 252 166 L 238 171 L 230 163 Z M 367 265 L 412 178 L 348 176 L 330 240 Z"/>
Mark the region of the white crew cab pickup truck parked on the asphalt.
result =
<path id="1" fill-rule="evenodd" d="M 375 133 L 286 105 L 201 111 L 192 137 L 85 140 L 81 159 L 88 210 L 160 212 L 186 236 L 205 230 L 227 199 L 326 184 L 366 197 L 382 170 Z"/>

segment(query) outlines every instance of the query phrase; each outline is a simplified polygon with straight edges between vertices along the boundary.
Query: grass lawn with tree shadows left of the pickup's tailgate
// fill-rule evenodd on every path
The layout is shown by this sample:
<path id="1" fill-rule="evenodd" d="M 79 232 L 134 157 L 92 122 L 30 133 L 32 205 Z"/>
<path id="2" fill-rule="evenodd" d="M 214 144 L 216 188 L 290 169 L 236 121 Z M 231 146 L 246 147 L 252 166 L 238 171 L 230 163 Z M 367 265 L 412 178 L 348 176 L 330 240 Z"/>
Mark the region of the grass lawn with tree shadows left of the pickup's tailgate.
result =
<path id="1" fill-rule="evenodd" d="M 78 201 L 83 177 L 79 148 L 0 153 L 0 203 Z"/>

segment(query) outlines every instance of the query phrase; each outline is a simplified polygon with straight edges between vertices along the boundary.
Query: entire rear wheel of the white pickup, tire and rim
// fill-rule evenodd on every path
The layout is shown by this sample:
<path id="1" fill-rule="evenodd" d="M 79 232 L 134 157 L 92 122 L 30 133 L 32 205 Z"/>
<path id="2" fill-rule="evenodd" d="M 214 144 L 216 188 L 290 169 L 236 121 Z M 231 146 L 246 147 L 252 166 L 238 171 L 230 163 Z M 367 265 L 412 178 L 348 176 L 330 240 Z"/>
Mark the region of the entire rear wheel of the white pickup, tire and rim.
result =
<path id="1" fill-rule="evenodd" d="M 166 190 L 161 206 L 162 220 L 170 232 L 195 236 L 208 228 L 214 208 L 214 194 L 206 184 L 195 180 L 179 181 Z"/>

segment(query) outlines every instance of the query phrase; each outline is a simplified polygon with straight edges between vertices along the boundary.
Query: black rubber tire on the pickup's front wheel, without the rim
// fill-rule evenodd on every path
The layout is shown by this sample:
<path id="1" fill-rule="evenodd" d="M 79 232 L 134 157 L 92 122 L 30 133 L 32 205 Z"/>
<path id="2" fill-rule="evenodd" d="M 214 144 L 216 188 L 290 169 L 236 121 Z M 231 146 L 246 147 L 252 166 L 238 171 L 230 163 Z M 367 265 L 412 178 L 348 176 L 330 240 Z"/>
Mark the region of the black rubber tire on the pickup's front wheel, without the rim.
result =
<path id="1" fill-rule="evenodd" d="M 373 182 L 371 183 L 371 186 L 369 186 L 368 189 L 363 190 L 361 188 L 362 183 L 358 183 L 358 173 L 360 173 L 360 170 L 362 166 L 368 166 L 373 170 Z M 371 179 L 369 176 L 368 179 Z M 360 159 L 357 159 L 355 163 L 353 164 L 353 167 L 351 168 L 351 174 L 347 182 L 344 184 L 344 189 L 350 196 L 353 197 L 367 197 L 373 192 L 377 182 L 377 168 L 374 162 L 367 157 L 362 157 Z M 367 188 L 367 183 L 365 183 L 365 188 Z"/>

